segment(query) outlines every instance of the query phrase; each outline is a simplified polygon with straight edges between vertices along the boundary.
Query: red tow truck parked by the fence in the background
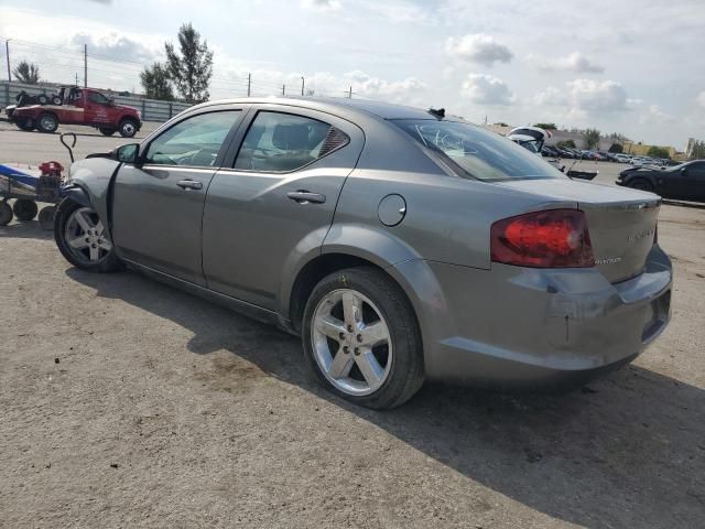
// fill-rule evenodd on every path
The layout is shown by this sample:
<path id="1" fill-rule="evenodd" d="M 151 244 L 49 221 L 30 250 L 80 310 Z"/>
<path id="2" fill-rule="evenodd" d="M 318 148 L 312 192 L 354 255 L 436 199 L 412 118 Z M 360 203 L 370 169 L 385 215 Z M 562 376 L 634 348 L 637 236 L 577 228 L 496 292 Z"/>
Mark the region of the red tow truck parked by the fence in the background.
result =
<path id="1" fill-rule="evenodd" d="M 7 108 L 8 117 L 22 130 L 54 132 L 59 123 L 95 127 L 106 136 L 116 131 L 132 138 L 142 127 L 137 108 L 116 105 L 112 99 L 91 88 L 62 88 L 62 105 L 30 105 Z"/>

